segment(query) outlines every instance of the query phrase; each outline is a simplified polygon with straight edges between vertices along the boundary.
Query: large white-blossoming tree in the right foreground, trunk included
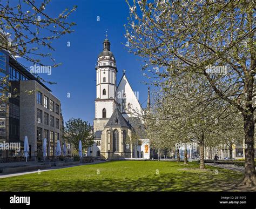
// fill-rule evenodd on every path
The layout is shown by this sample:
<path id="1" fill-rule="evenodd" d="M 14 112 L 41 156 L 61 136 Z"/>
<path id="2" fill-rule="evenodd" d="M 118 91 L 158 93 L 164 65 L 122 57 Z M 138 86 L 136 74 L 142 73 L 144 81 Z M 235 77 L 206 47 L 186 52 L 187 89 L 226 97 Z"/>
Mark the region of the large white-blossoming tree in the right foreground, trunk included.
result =
<path id="1" fill-rule="evenodd" d="M 255 185 L 253 1 L 134 1 L 126 38 L 154 84 L 200 75 L 208 89 L 241 112 L 245 136 L 242 184 Z M 209 66 L 223 71 L 208 73 Z M 154 70 L 157 69 L 157 70 Z M 151 74 L 152 73 L 152 74 Z"/>

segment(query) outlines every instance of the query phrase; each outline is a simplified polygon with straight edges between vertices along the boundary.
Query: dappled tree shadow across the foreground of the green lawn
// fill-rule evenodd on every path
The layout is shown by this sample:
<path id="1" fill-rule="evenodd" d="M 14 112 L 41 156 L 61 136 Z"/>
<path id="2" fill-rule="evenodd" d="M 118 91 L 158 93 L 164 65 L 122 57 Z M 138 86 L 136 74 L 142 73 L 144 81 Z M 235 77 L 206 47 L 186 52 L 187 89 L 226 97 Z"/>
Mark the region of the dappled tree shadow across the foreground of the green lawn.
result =
<path id="1" fill-rule="evenodd" d="M 53 180 L 54 179 L 54 180 Z M 1 191 L 241 191 L 242 175 L 221 170 L 151 174 L 143 177 L 23 178 L 0 183 Z M 250 191 L 245 188 L 245 191 Z M 253 190 L 255 191 L 255 190 Z"/>

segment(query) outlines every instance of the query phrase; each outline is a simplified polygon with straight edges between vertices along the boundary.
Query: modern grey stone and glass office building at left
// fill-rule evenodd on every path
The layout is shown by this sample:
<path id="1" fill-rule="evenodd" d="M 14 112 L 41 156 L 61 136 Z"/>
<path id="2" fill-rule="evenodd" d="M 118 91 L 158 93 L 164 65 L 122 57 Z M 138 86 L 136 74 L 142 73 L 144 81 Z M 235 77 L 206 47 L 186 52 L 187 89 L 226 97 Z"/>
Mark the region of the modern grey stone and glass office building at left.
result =
<path id="1" fill-rule="evenodd" d="M 22 156 L 25 136 L 32 160 L 42 156 L 44 138 L 48 140 L 48 156 L 54 156 L 57 140 L 62 141 L 60 100 L 16 58 L 0 51 L 0 79 L 6 75 L 10 86 L 5 91 L 8 100 L 0 104 L 0 142 L 21 143 L 22 150 L 0 150 L 0 157 Z"/>

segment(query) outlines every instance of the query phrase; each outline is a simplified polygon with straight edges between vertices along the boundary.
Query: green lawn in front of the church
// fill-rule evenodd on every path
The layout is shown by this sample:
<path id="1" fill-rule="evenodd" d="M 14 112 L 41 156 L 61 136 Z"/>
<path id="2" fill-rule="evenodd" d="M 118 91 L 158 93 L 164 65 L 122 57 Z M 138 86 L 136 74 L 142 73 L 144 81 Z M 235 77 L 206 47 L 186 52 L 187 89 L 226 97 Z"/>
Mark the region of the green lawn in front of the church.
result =
<path id="1" fill-rule="evenodd" d="M 241 191 L 237 185 L 242 173 L 198 167 L 197 163 L 112 161 L 2 178 L 0 191 Z"/>

